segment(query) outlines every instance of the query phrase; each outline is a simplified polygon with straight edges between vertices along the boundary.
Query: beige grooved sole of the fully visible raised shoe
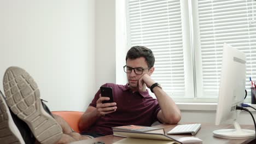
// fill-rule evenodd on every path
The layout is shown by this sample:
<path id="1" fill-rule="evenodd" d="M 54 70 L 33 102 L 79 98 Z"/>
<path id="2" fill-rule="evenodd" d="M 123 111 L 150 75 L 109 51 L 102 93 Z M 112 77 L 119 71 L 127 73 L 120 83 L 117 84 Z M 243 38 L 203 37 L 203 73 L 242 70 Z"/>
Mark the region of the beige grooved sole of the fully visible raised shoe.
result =
<path id="1" fill-rule="evenodd" d="M 3 87 L 11 111 L 27 123 L 40 143 L 51 144 L 61 139 L 61 126 L 43 109 L 38 86 L 24 69 L 8 68 Z"/>

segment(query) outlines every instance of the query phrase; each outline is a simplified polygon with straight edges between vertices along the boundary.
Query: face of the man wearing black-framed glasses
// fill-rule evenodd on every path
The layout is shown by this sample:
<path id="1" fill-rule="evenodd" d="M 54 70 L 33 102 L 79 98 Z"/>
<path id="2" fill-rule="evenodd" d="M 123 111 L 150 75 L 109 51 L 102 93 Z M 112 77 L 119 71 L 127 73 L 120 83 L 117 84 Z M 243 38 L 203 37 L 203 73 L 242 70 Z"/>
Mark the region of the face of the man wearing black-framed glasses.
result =
<path id="1" fill-rule="evenodd" d="M 145 69 L 142 74 L 136 74 L 134 69 L 131 71 L 131 73 L 126 73 L 127 80 L 129 82 L 129 85 L 131 88 L 137 88 L 138 87 L 138 80 L 141 78 L 143 74 L 151 75 L 152 71 L 148 69 L 148 64 L 146 62 L 146 59 L 144 57 L 139 57 L 136 59 L 127 59 L 126 61 L 127 67 L 130 68 L 142 68 Z"/>

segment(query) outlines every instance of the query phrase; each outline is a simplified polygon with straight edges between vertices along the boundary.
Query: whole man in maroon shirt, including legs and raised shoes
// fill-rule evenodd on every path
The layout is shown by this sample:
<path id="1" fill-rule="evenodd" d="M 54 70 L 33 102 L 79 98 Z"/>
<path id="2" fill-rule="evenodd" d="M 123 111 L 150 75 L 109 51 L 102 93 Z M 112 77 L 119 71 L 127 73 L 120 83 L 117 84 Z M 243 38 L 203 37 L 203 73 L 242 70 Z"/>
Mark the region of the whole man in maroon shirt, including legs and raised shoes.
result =
<path id="1" fill-rule="evenodd" d="M 103 86 L 113 88 L 114 103 L 95 94 L 92 103 L 79 122 L 82 135 L 75 133 L 63 118 L 52 115 L 40 101 L 36 82 L 23 69 L 10 67 L 5 71 L 3 86 L 7 96 L 0 92 L 0 141 L 1 143 L 69 143 L 113 134 L 112 127 L 126 124 L 150 126 L 154 122 L 176 124 L 181 119 L 174 101 L 153 81 L 154 55 L 143 46 L 134 46 L 126 56 L 124 71 L 129 83 Z M 155 93 L 153 99 L 147 88 Z M 87 135 L 87 136 L 86 136 Z"/>

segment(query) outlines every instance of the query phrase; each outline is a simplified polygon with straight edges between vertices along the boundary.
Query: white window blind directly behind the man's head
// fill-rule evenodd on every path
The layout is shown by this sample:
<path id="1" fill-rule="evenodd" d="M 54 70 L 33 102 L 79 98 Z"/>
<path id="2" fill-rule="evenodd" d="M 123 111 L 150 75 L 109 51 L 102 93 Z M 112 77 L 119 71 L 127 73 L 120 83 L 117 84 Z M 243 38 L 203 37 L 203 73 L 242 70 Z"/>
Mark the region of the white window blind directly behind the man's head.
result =
<path id="1" fill-rule="evenodd" d="M 153 79 L 173 97 L 184 97 L 188 88 L 184 85 L 180 1 L 130 0 L 127 7 L 130 46 L 151 49 L 155 56 Z"/>

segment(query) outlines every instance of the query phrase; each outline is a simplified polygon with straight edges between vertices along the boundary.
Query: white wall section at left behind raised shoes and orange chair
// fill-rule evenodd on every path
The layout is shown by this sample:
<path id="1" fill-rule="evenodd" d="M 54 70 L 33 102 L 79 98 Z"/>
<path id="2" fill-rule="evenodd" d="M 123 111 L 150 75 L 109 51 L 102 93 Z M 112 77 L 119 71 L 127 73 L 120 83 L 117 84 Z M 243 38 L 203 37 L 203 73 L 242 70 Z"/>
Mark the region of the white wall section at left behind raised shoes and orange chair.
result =
<path id="1" fill-rule="evenodd" d="M 94 31 L 94 0 L 0 0 L 0 81 L 24 68 L 51 110 L 84 111 L 96 91 Z"/>

